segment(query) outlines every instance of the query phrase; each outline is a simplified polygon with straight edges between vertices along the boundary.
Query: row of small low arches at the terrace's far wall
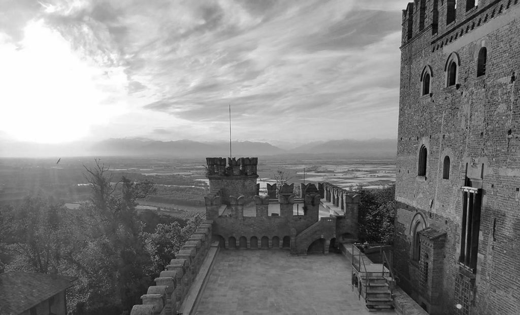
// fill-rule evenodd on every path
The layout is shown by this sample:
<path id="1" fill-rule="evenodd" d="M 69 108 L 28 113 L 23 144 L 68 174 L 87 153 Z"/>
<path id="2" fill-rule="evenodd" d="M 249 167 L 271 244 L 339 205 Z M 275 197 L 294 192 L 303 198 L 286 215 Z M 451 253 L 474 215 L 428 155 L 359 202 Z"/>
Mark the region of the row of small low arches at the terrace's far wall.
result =
<path id="1" fill-rule="evenodd" d="M 291 248 L 290 236 L 283 236 L 282 238 L 278 236 L 273 236 L 272 238 L 252 236 L 249 240 L 245 236 L 239 237 L 238 240 L 235 236 L 230 236 L 227 240 L 222 235 L 217 235 L 217 237 L 220 248 L 225 249 Z"/>

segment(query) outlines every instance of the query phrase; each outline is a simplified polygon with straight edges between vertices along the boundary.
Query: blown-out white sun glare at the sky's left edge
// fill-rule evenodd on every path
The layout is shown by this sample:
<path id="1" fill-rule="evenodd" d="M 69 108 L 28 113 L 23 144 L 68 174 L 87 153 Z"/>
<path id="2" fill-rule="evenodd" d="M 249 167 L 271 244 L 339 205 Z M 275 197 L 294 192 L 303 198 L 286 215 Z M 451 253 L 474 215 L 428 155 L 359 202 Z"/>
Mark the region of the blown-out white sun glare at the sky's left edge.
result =
<path id="1" fill-rule="evenodd" d="M 107 95 L 96 81 L 105 70 L 74 54 L 42 21 L 24 31 L 21 47 L 0 37 L 0 131 L 19 141 L 61 143 L 105 123 L 110 108 L 102 106 Z"/>

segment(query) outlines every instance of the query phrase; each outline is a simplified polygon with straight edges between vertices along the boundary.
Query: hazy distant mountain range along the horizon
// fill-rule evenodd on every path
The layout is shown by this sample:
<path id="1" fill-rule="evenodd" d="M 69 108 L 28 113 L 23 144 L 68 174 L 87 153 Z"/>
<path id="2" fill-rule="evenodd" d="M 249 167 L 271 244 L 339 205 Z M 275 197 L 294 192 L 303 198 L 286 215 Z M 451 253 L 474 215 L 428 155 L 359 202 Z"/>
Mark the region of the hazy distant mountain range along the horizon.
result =
<path id="1" fill-rule="evenodd" d="M 267 142 L 233 141 L 233 156 L 339 155 L 345 157 L 395 157 L 397 141 L 393 139 L 333 140 L 311 142 L 282 149 Z M 171 156 L 227 157 L 229 143 L 202 143 L 191 140 L 154 141 L 144 138 L 112 138 L 96 142 L 42 145 L 0 143 L 0 156 Z"/>

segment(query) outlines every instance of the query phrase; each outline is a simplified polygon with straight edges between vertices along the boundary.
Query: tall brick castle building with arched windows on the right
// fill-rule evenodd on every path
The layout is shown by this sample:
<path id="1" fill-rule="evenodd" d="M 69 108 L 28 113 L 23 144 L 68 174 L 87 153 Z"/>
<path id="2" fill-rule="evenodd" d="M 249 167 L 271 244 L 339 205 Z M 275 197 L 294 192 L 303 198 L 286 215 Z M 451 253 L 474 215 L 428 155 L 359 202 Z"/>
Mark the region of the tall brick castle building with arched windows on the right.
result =
<path id="1" fill-rule="evenodd" d="M 520 313 L 520 4 L 402 15 L 394 268 L 431 314 Z"/>

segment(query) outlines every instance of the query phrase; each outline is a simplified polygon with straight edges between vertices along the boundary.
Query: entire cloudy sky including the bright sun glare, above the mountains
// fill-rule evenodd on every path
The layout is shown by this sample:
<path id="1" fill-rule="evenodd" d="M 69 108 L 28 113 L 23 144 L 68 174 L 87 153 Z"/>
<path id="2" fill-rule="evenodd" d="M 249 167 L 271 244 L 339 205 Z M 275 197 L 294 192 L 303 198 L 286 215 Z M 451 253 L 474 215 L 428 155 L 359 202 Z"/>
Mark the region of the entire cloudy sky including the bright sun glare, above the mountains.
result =
<path id="1" fill-rule="evenodd" d="M 0 140 L 396 138 L 403 0 L 0 0 Z"/>

